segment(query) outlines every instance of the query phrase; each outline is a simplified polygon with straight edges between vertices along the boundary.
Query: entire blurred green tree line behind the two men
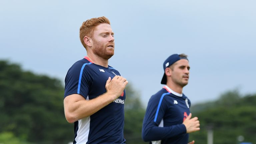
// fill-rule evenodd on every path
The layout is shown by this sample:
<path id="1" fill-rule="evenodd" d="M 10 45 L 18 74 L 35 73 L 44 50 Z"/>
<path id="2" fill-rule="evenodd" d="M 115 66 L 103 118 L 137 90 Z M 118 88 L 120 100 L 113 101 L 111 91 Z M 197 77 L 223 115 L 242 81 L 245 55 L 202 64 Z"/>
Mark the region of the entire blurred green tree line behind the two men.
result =
<path id="1" fill-rule="evenodd" d="M 73 141 L 73 124 L 66 121 L 61 80 L 24 71 L 19 64 L 0 60 L 0 143 L 68 144 Z M 124 136 L 127 144 L 145 144 L 141 138 L 145 107 L 132 83 L 126 87 Z M 189 96 L 189 94 L 188 94 Z M 207 97 L 207 94 L 205 95 Z M 201 130 L 190 141 L 207 143 L 213 130 L 214 144 L 256 142 L 256 94 L 241 95 L 238 90 L 221 94 L 216 101 L 193 104 L 192 116 Z"/>

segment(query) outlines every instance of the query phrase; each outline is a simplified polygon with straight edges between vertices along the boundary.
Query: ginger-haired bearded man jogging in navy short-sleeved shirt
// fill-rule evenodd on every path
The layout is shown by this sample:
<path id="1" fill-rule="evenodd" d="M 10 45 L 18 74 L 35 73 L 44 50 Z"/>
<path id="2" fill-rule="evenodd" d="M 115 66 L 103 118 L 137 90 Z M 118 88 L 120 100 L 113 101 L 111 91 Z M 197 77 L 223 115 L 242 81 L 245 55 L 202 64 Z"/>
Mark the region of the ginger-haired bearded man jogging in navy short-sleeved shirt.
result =
<path id="1" fill-rule="evenodd" d="M 80 27 L 87 56 L 75 62 L 65 78 L 64 112 L 74 123 L 74 144 L 125 144 L 124 101 L 128 81 L 108 65 L 114 55 L 114 33 L 106 17 Z"/>

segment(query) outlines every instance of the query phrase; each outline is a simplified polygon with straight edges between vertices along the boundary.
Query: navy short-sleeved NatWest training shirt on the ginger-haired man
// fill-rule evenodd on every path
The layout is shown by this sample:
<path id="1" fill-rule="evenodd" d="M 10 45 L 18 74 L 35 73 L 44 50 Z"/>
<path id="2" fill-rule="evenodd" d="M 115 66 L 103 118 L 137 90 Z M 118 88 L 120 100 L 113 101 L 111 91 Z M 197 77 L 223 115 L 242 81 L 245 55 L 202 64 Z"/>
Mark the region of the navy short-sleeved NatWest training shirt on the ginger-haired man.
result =
<path id="1" fill-rule="evenodd" d="M 80 94 L 86 100 L 106 93 L 106 81 L 120 75 L 113 67 L 94 64 L 88 57 L 77 61 L 68 70 L 65 78 L 64 98 Z M 74 123 L 73 144 L 124 144 L 124 101 L 123 94 L 93 115 Z"/>

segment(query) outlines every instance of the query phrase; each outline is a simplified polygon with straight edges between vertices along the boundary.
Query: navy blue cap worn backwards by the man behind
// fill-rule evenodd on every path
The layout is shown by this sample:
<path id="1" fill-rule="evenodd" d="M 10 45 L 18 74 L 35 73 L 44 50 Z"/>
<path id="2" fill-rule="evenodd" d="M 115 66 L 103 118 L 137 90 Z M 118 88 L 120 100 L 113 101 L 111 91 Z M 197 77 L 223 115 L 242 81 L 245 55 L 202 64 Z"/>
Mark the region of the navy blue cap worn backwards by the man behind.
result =
<path id="1" fill-rule="evenodd" d="M 166 75 L 165 75 L 165 69 L 169 66 L 171 66 L 172 64 L 174 64 L 176 61 L 178 60 L 181 60 L 181 59 L 186 59 L 188 60 L 186 57 L 180 57 L 179 54 L 173 54 L 171 56 L 169 56 L 165 61 L 164 61 L 164 64 L 163 64 L 163 67 L 164 67 L 164 76 L 162 78 L 162 81 L 161 81 L 161 84 L 166 84 L 167 82 L 167 78 L 166 78 Z"/>

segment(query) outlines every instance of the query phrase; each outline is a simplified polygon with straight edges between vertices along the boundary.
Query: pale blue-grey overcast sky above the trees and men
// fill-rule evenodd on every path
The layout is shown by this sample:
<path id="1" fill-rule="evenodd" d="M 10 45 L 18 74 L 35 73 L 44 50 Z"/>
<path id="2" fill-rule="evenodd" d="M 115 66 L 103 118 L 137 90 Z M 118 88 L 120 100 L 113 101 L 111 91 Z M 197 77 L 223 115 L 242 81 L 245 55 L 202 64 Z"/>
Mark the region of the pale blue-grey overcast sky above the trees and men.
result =
<path id="1" fill-rule="evenodd" d="M 109 65 L 144 105 L 163 87 L 162 65 L 173 53 L 188 55 L 183 93 L 192 105 L 237 88 L 256 93 L 255 7 L 255 0 L 0 0 L 0 59 L 64 85 L 67 70 L 86 56 L 82 22 L 106 16 L 115 33 Z"/>

